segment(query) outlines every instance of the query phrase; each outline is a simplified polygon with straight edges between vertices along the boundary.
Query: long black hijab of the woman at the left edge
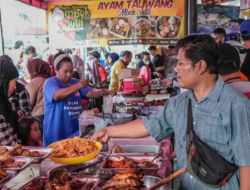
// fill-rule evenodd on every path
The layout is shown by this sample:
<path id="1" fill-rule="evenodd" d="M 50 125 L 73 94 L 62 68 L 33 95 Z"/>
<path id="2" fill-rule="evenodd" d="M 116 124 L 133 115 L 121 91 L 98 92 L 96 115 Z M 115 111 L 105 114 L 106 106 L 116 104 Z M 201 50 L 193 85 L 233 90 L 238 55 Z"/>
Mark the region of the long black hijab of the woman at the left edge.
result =
<path id="1" fill-rule="evenodd" d="M 19 122 L 18 115 L 12 110 L 8 100 L 8 90 L 10 81 L 18 78 L 19 74 L 13 62 L 9 59 L 0 58 L 0 113 L 4 116 L 6 123 L 14 128 L 18 134 Z"/>

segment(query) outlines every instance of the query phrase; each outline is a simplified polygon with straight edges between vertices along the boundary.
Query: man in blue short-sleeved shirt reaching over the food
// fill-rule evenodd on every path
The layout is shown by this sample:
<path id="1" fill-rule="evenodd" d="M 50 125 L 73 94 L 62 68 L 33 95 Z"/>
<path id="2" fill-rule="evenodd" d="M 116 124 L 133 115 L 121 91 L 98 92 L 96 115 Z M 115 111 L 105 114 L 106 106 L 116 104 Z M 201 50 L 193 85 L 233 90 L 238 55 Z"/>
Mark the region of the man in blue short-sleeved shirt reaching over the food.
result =
<path id="1" fill-rule="evenodd" d="M 217 190 L 250 189 L 250 101 L 218 76 L 219 52 L 208 35 L 193 35 L 177 44 L 175 67 L 180 87 L 190 89 L 170 98 L 162 111 L 97 131 L 94 141 L 111 137 L 141 138 L 151 135 L 158 142 L 175 133 L 178 169 L 187 166 L 186 138 L 188 102 L 191 100 L 193 129 L 198 138 L 239 169 Z M 181 175 L 182 189 L 212 190 L 191 176 Z"/>

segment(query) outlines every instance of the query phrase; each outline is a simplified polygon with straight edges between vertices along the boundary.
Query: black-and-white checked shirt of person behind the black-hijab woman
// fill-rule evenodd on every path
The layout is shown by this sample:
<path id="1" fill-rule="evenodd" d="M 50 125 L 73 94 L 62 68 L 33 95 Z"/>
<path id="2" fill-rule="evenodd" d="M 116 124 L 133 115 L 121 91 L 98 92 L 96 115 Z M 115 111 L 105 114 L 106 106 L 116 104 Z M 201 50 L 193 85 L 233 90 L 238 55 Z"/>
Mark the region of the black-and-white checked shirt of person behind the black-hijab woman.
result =
<path id="1" fill-rule="evenodd" d="M 16 89 L 13 95 L 9 98 L 12 109 L 20 113 L 20 118 L 30 115 L 30 96 L 26 88 L 22 90 Z"/>

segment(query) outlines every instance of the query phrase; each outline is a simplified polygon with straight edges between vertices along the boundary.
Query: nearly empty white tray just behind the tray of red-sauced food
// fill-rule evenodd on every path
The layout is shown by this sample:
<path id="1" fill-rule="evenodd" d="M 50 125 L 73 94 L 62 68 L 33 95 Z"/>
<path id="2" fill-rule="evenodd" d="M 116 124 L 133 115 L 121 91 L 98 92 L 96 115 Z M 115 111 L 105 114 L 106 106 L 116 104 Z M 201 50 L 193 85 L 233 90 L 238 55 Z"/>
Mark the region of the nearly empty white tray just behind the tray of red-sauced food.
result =
<path id="1" fill-rule="evenodd" d="M 112 150 L 112 156 L 142 155 L 142 153 L 147 153 L 148 155 L 155 155 L 158 154 L 160 151 L 160 147 L 157 145 L 119 145 L 119 147 L 123 150 L 126 150 L 128 153 L 115 153 L 114 148 Z"/>

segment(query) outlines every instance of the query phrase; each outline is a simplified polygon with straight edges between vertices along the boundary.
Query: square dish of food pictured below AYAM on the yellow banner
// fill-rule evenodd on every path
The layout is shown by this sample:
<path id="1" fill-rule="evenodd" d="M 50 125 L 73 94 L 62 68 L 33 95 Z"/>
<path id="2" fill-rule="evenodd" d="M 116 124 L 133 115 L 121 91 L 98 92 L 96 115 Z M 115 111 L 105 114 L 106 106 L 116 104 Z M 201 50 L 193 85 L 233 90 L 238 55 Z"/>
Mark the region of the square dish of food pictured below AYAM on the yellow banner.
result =
<path id="1" fill-rule="evenodd" d="M 126 18 L 114 18 L 109 32 L 119 38 L 127 38 L 130 29 L 130 23 Z"/>

